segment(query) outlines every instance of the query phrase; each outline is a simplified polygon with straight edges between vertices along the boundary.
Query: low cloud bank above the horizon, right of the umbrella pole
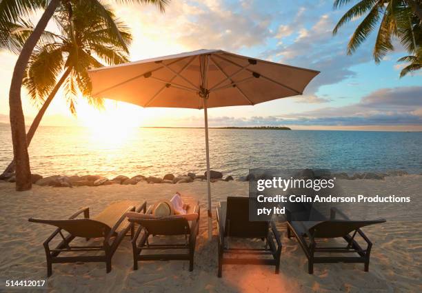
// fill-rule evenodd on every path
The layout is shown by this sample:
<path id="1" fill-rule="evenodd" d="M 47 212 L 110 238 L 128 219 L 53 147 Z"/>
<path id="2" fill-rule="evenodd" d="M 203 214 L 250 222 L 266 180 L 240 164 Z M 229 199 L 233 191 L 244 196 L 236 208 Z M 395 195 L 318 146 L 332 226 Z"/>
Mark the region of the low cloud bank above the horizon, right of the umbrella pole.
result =
<path id="1" fill-rule="evenodd" d="M 311 96 L 314 97 L 314 96 Z M 310 97 L 307 97 L 310 99 Z M 311 98 L 312 99 L 312 98 Z M 316 99 L 319 99 L 316 97 Z M 191 119 L 200 125 L 201 121 Z M 365 96 L 358 103 L 327 107 L 301 114 L 255 117 L 212 117 L 212 126 L 252 125 L 328 125 L 328 126 L 398 126 L 422 128 L 422 87 L 384 88 Z"/>

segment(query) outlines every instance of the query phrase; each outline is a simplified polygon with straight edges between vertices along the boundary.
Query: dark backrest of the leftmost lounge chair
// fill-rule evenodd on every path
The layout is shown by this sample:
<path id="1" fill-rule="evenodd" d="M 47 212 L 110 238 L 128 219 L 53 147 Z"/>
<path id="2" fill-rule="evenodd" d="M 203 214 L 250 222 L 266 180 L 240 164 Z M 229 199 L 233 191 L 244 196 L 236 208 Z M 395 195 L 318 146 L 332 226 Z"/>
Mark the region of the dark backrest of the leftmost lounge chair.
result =
<path id="1" fill-rule="evenodd" d="M 108 235 L 111 230 L 105 223 L 92 219 L 43 220 L 30 218 L 28 221 L 53 225 L 69 232 L 73 236 L 83 238 L 104 237 Z"/>

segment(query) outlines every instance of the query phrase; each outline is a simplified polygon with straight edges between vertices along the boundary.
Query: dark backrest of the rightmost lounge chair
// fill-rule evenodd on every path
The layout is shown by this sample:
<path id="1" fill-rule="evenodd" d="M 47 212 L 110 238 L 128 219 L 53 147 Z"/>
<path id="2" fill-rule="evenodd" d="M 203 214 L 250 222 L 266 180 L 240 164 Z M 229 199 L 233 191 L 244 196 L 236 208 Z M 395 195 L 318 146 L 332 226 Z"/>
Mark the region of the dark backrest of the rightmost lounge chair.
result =
<path id="1" fill-rule="evenodd" d="M 384 222 L 384 219 L 372 221 L 330 220 L 317 223 L 309 229 L 309 232 L 314 238 L 336 238 L 365 226 Z"/>

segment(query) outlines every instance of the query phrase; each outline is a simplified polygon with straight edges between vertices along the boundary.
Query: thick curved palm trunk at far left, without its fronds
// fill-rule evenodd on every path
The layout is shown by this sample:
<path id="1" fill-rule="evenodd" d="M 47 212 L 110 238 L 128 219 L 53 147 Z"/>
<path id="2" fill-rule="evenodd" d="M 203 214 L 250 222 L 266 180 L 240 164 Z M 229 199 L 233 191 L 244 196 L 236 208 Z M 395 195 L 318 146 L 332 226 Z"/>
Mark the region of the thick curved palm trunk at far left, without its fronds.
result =
<path id="1" fill-rule="evenodd" d="M 21 87 L 26 65 L 44 29 L 50 21 L 60 0 L 51 0 L 37 26 L 23 45 L 21 54 L 14 65 L 12 82 L 10 83 L 9 106 L 10 128 L 12 129 L 13 156 L 16 161 L 16 190 L 30 190 L 32 188 L 31 170 L 26 143 L 25 117 L 23 117 Z"/>

